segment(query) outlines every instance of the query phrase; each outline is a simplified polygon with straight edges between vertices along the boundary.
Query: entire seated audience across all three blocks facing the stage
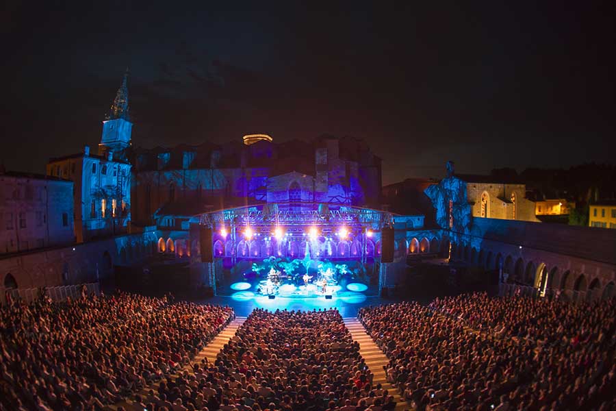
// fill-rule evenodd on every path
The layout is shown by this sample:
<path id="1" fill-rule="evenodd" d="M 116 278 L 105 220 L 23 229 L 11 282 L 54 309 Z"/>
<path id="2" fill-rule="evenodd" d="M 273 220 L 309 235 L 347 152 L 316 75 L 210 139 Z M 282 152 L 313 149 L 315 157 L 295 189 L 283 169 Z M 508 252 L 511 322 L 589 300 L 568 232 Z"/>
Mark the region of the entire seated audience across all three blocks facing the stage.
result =
<path id="1" fill-rule="evenodd" d="M 216 359 L 188 366 L 233 318 L 125 293 L 13 301 L 0 309 L 0 411 L 396 407 L 335 309 L 257 308 Z M 359 319 L 416 410 L 616 409 L 616 299 L 474 293 L 361 308 Z"/>

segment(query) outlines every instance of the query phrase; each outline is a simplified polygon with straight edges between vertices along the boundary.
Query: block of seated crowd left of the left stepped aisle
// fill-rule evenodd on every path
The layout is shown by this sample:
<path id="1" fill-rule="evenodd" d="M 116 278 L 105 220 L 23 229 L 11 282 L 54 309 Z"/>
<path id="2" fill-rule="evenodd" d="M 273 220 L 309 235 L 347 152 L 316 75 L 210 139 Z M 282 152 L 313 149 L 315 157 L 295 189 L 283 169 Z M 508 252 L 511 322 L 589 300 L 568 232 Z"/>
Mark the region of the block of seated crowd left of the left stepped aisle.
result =
<path id="1" fill-rule="evenodd" d="M 120 293 L 0 308 L 0 410 L 100 410 L 177 371 L 229 307 Z"/>

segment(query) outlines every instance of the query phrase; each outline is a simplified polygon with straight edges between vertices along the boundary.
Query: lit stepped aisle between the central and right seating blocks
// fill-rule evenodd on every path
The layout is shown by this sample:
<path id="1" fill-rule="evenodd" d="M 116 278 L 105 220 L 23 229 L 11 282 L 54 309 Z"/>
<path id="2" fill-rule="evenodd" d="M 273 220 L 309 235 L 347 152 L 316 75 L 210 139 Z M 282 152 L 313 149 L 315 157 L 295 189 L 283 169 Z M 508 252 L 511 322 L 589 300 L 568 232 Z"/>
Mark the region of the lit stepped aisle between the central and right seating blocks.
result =
<path id="1" fill-rule="evenodd" d="M 392 386 L 387 382 L 385 377 L 384 365 L 387 365 L 389 359 L 383 351 L 374 343 L 372 338 L 365 331 L 363 325 L 356 318 L 344 318 L 344 325 L 348 328 L 354 341 L 359 343 L 359 353 L 363 357 L 365 364 L 368 365 L 368 369 L 374 374 L 372 381 L 373 386 L 381 384 L 384 390 L 387 390 L 389 395 L 394 396 L 396 401 L 396 410 L 411 410 L 409 404 L 400 397 L 398 388 Z"/>

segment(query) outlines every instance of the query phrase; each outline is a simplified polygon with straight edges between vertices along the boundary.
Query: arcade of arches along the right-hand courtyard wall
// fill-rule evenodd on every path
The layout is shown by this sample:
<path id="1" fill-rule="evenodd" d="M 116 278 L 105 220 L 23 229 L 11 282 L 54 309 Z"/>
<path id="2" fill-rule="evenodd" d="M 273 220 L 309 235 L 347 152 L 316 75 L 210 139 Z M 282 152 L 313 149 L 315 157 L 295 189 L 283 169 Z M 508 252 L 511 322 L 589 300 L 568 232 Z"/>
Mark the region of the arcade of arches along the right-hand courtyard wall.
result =
<path id="1" fill-rule="evenodd" d="M 524 259 L 511 254 L 503 255 L 492 251 L 476 248 L 470 245 L 451 246 L 451 259 L 466 262 L 470 266 L 479 266 L 486 271 L 498 273 L 502 270 L 503 279 L 509 282 L 532 286 L 546 295 L 548 291 L 565 292 L 565 294 L 585 294 L 590 299 L 606 299 L 616 295 L 614 279 L 604 279 L 589 272 L 573 272 L 556 264 L 546 264 L 543 261 Z"/>

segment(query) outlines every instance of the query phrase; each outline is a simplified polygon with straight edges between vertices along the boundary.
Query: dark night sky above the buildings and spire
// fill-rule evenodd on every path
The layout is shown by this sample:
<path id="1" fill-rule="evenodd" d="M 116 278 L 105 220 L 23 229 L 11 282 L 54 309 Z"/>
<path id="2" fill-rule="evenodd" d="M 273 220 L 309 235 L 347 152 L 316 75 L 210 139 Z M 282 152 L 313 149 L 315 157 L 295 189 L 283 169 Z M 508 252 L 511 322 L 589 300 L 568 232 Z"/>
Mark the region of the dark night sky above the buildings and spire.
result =
<path id="1" fill-rule="evenodd" d="M 613 1 L 40 3 L 0 12 L 10 170 L 95 151 L 127 66 L 142 147 L 355 136 L 384 184 L 615 161 Z"/>

